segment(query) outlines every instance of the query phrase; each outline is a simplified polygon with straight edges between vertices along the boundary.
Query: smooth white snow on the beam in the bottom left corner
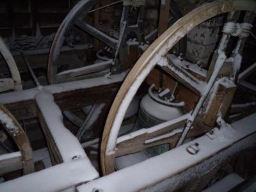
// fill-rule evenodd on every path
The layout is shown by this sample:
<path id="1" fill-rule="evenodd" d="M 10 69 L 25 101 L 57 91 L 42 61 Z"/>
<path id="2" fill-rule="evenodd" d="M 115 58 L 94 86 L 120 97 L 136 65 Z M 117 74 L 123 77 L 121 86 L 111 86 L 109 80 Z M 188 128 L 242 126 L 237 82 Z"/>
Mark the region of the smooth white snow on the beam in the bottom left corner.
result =
<path id="1" fill-rule="evenodd" d="M 3 182 L 0 184 L 0 191 L 60 191 L 97 177 L 99 173 L 93 168 L 89 159 L 83 158 Z"/>

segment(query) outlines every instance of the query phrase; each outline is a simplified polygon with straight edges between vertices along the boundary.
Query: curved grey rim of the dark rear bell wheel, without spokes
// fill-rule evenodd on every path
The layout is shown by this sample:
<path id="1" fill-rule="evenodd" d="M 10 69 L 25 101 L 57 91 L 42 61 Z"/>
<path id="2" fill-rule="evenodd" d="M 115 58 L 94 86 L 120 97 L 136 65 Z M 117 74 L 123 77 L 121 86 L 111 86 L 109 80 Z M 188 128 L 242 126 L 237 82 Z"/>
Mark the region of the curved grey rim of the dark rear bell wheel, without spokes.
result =
<path id="1" fill-rule="evenodd" d="M 97 4 L 100 0 L 81 0 L 79 1 L 72 10 L 65 17 L 63 22 L 58 28 L 54 40 L 52 42 L 51 51 L 49 54 L 48 65 L 47 65 L 47 77 L 50 84 L 57 83 L 57 60 L 60 55 L 60 49 L 65 41 L 65 36 L 69 29 L 72 28 L 75 20 L 83 18 Z"/>

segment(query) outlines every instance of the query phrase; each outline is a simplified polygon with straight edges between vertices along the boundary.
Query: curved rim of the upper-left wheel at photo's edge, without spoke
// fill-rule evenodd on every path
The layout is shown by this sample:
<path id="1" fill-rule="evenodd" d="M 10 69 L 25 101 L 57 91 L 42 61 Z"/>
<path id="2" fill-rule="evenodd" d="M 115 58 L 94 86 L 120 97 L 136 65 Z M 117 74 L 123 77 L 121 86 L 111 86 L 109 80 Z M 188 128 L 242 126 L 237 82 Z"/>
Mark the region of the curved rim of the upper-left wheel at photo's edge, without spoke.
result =
<path id="1" fill-rule="evenodd" d="M 13 87 L 10 87 L 10 89 L 13 89 L 15 91 L 21 91 L 22 90 L 22 84 L 21 84 L 21 79 L 20 79 L 20 73 L 18 70 L 18 67 L 13 59 L 13 56 L 9 49 L 6 47 L 4 44 L 3 38 L 0 37 L 0 52 L 6 61 L 6 64 L 8 65 L 12 79 L 13 79 Z"/>

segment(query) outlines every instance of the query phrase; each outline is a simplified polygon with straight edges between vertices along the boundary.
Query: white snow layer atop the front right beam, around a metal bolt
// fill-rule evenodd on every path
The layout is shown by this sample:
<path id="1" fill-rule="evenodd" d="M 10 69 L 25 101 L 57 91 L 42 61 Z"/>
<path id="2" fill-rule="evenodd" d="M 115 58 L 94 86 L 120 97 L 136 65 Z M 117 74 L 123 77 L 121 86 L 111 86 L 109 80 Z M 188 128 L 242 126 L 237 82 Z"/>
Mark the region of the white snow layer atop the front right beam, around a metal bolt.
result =
<path id="1" fill-rule="evenodd" d="M 204 135 L 196 140 L 190 141 L 180 147 L 174 148 L 164 154 L 152 157 L 138 164 L 134 164 L 118 172 L 111 173 L 97 180 L 92 180 L 87 184 L 77 187 L 77 191 L 93 191 L 99 189 L 104 192 L 108 191 L 138 191 L 147 186 L 151 186 L 161 180 L 186 170 L 191 166 L 198 164 L 202 159 L 207 159 L 232 145 L 232 143 L 248 136 L 246 144 L 254 143 L 256 140 L 256 113 L 243 120 L 227 126 L 220 136 L 212 140 Z M 241 141 L 242 142 L 242 141 Z M 248 143 L 247 143 L 248 142 Z M 186 148 L 189 145 L 198 143 L 199 152 L 191 155 Z M 225 153 L 224 153 L 225 154 Z M 223 155 L 224 155 L 223 154 Z M 218 161 L 214 161 L 218 163 Z"/>

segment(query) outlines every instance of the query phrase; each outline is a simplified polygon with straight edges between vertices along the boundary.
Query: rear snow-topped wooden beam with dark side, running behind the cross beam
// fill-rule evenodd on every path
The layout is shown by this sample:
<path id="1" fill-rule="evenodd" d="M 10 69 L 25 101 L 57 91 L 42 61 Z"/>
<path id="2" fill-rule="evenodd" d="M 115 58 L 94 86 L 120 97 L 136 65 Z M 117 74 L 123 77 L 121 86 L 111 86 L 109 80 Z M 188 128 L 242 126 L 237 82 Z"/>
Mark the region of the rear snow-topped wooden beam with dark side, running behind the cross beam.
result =
<path id="1" fill-rule="evenodd" d="M 97 77 L 68 83 L 44 86 L 44 90 L 54 95 L 54 100 L 61 110 L 79 108 L 90 104 L 101 103 L 115 97 L 115 93 L 124 80 L 126 72 L 111 77 Z M 22 92 L 2 93 L 0 102 L 18 119 L 36 116 L 35 95 L 38 88 Z M 100 94 L 99 94 L 100 93 Z"/>

